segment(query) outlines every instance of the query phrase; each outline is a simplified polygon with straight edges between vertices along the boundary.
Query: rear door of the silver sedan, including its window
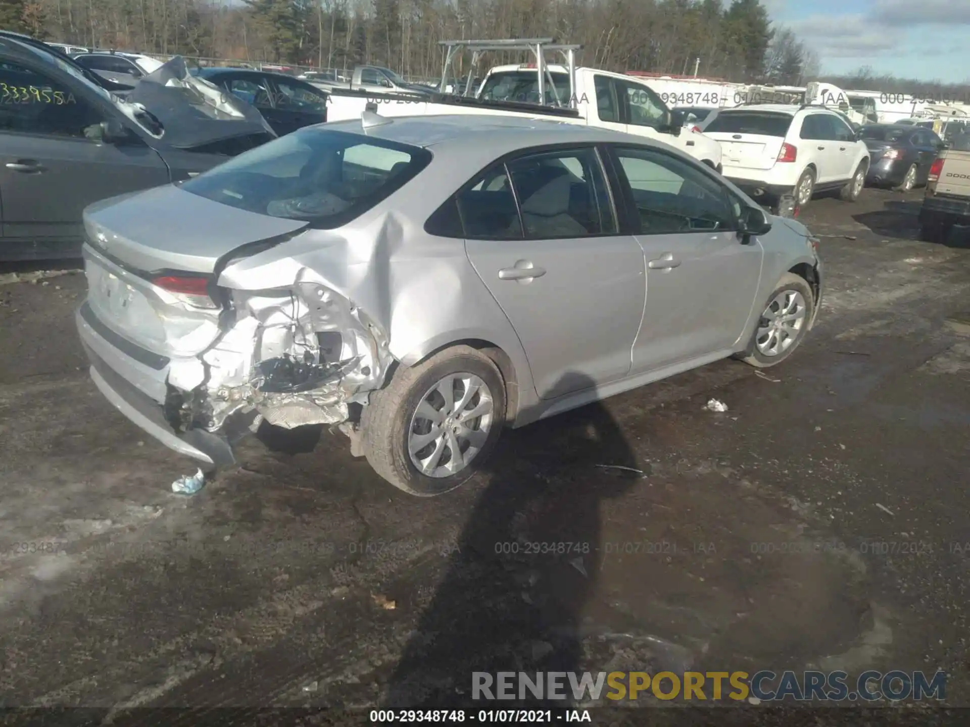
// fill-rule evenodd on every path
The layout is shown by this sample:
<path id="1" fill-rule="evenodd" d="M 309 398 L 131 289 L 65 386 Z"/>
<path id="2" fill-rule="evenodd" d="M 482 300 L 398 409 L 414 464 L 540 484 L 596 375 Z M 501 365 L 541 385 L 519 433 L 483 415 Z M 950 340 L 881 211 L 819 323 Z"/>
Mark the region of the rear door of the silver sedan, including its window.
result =
<path id="1" fill-rule="evenodd" d="M 643 252 L 617 232 L 596 148 L 498 165 L 458 203 L 469 260 L 518 333 L 536 393 L 626 376 L 643 315 Z"/>

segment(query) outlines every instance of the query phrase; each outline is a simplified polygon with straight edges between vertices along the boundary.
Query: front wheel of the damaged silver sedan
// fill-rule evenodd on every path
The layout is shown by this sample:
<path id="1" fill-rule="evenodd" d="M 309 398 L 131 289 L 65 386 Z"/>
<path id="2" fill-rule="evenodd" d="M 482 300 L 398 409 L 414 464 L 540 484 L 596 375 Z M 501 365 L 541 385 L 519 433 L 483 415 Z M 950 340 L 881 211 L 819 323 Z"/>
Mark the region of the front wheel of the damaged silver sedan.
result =
<path id="1" fill-rule="evenodd" d="M 781 364 L 798 347 L 815 312 L 804 278 L 787 272 L 768 296 L 743 361 L 758 368 Z"/>

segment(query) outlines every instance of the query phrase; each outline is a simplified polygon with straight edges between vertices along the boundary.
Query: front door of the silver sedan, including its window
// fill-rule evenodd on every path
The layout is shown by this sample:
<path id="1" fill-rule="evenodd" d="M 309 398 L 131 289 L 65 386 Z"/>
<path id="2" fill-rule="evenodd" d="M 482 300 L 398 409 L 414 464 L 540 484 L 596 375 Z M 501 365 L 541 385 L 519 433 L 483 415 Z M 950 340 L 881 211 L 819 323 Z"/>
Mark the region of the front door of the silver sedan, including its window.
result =
<path id="1" fill-rule="evenodd" d="M 760 281 L 760 242 L 737 235 L 741 203 L 699 165 L 617 145 L 647 261 L 632 373 L 726 352 L 744 332 Z"/>

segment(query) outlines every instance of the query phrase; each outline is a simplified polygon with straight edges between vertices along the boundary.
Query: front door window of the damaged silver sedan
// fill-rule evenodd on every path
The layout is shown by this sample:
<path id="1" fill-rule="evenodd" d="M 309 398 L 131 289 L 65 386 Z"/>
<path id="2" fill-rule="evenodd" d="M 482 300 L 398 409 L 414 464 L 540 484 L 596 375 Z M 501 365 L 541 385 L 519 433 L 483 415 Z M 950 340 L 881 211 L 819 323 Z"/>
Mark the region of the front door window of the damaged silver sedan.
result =
<path id="1" fill-rule="evenodd" d="M 708 174 L 653 149 L 616 149 L 641 235 L 736 229 L 741 205 Z"/>

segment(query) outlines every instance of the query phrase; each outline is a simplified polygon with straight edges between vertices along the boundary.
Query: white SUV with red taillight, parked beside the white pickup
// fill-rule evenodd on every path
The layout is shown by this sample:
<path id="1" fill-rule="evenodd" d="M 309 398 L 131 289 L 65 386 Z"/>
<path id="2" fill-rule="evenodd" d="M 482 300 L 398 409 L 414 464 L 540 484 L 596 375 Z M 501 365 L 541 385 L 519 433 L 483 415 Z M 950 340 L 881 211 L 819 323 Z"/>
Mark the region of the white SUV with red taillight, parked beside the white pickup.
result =
<path id="1" fill-rule="evenodd" d="M 835 111 L 819 106 L 754 104 L 723 109 L 703 125 L 721 142 L 724 175 L 777 212 L 783 195 L 807 205 L 816 191 L 838 189 L 855 202 L 869 151 Z"/>

